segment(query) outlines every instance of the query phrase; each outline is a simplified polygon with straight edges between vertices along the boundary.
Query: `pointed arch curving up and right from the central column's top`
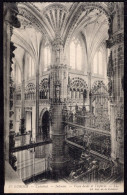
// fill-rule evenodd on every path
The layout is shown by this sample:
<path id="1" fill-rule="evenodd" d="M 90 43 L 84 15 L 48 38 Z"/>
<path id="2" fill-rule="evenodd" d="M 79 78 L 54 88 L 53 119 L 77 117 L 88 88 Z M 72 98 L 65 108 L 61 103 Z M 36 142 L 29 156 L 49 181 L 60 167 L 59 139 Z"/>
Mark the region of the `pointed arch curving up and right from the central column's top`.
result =
<path id="1" fill-rule="evenodd" d="M 70 11 L 70 14 L 68 15 L 69 19 L 63 33 L 65 47 L 76 29 L 83 29 L 85 26 L 95 21 L 99 14 L 105 15 L 106 23 L 109 25 L 111 15 L 109 4 L 102 2 L 86 2 L 84 5 L 82 2 L 80 2 L 79 4 L 74 3 L 71 10 L 72 11 Z"/>

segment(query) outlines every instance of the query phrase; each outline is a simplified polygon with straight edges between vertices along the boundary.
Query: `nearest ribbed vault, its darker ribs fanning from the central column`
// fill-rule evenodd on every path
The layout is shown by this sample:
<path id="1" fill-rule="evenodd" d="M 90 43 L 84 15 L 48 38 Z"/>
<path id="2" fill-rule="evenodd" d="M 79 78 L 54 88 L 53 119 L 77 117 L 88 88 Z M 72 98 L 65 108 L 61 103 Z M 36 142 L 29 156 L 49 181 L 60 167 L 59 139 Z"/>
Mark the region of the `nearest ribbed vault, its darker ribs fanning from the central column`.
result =
<path id="1" fill-rule="evenodd" d="M 108 5 L 101 2 L 74 3 L 19 3 L 19 19 L 23 26 L 33 26 L 53 41 L 59 34 L 64 43 L 71 34 L 97 19 L 99 13 L 110 17 Z"/>

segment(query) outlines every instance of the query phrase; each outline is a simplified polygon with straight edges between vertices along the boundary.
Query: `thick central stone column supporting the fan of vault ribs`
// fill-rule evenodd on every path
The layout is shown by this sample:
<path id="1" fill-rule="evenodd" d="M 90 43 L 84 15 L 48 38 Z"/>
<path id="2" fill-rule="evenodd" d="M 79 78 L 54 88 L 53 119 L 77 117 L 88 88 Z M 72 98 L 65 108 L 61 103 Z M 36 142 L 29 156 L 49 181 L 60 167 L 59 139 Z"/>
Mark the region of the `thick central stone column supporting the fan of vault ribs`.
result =
<path id="1" fill-rule="evenodd" d="M 56 38 L 52 44 L 54 61 L 50 68 L 50 101 L 52 123 L 52 169 L 56 177 L 66 170 L 65 129 L 62 116 L 63 106 L 67 99 L 68 71 L 63 64 L 63 42 Z M 58 175 L 57 175 L 58 174 Z"/>

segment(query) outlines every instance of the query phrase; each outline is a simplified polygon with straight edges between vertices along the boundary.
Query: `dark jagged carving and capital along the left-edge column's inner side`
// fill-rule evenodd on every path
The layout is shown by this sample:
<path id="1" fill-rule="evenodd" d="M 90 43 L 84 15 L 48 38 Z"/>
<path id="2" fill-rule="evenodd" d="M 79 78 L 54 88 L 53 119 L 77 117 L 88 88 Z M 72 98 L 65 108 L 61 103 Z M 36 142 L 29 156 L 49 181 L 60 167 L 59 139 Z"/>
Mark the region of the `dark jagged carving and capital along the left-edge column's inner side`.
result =
<path id="1" fill-rule="evenodd" d="M 17 5 L 16 3 L 13 2 L 6 2 L 4 3 L 4 22 L 8 24 L 9 28 L 10 28 L 10 36 L 12 36 L 13 33 L 13 27 L 19 28 L 20 27 L 20 22 L 17 18 L 17 14 L 18 14 L 18 9 L 17 9 Z M 11 37 L 7 37 L 7 41 L 10 40 Z M 13 51 L 15 50 L 15 46 L 12 42 L 10 42 L 10 71 L 9 71 L 9 76 L 10 76 L 10 88 L 9 88 L 9 92 L 10 92 L 10 111 L 9 111 L 9 116 L 10 116 L 10 122 L 9 122 L 9 163 L 12 166 L 12 168 L 16 171 L 16 165 L 15 162 L 16 157 L 13 155 L 12 153 L 12 148 L 15 145 L 15 140 L 14 140 L 14 129 L 13 129 L 13 114 L 14 114 L 14 110 L 13 110 L 13 92 L 14 92 L 14 86 L 13 86 L 13 81 L 11 78 L 11 71 L 12 71 L 12 58 L 14 57 Z M 8 48 L 7 48 L 8 49 Z M 9 56 L 7 56 L 9 57 Z M 8 64 L 7 64 L 8 65 Z"/>

